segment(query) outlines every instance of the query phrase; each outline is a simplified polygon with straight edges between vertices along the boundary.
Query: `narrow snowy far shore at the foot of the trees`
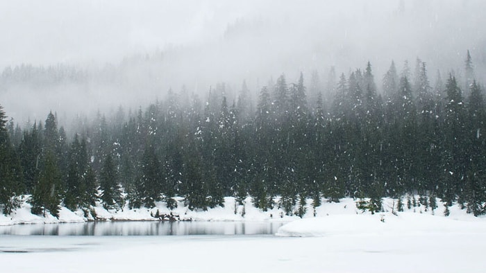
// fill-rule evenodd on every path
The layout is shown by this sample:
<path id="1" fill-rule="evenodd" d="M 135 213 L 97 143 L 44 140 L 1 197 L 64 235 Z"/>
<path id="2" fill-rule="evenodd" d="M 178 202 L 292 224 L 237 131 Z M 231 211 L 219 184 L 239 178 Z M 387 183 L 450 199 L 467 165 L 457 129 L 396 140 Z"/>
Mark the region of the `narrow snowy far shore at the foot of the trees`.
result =
<path id="1" fill-rule="evenodd" d="M 83 211 L 70 211 L 65 207 L 60 210 L 60 218 L 57 219 L 47 213 L 46 217 L 42 215 L 33 215 L 31 213 L 31 205 L 25 202 L 26 197 L 24 197 L 24 202 L 22 207 L 13 211 L 10 215 L 3 215 L 0 213 L 0 225 L 10 225 L 10 224 L 42 224 L 42 223 L 59 223 L 59 222 L 85 222 L 87 220 L 93 220 L 92 217 L 86 218 Z M 417 198 L 418 200 L 418 198 Z M 276 199 L 276 201 L 278 201 Z M 156 207 L 153 209 L 128 209 L 128 206 L 124 206 L 120 210 L 106 210 L 103 209 L 101 204 L 98 204 L 93 209 L 96 212 L 97 219 L 99 220 L 158 220 L 153 217 L 156 215 L 157 211 L 160 214 L 173 213 L 178 215 L 181 220 L 196 220 L 196 221 L 283 221 L 290 222 L 300 219 L 296 215 L 285 215 L 282 209 L 278 209 L 277 206 L 274 209 L 268 211 L 262 211 L 255 208 L 251 202 L 251 197 L 246 198 L 245 205 L 242 206 L 235 202 L 235 198 L 226 197 L 225 206 L 217 206 L 214 209 L 208 209 L 208 211 L 195 210 L 191 211 L 184 206 L 182 198 L 177 198 L 178 206 L 176 209 L 169 210 L 165 206 L 164 202 L 158 202 Z M 321 206 L 318 206 L 315 210 L 315 215 L 317 218 L 333 216 L 333 215 L 370 215 L 369 212 L 363 212 L 356 208 L 356 200 L 351 198 L 344 198 L 339 203 L 328 203 L 323 200 Z M 312 200 L 308 200 L 308 205 L 306 207 L 307 213 L 303 218 L 314 218 L 314 210 L 311 205 Z M 396 206 L 396 202 L 389 198 L 383 199 L 383 213 L 377 213 L 374 217 L 383 217 L 385 220 L 391 220 L 395 216 L 392 215 L 392 206 Z M 467 220 L 467 221 L 477 221 L 486 218 L 475 218 L 471 214 L 467 214 L 465 209 L 460 209 L 458 204 L 455 204 L 449 208 L 450 215 L 448 218 L 455 220 Z M 396 211 L 396 209 L 395 209 Z M 438 202 L 438 208 L 432 211 L 430 208 L 426 209 L 424 206 L 412 206 L 407 209 L 405 204 L 405 211 L 399 213 L 402 218 L 403 215 L 408 215 L 409 213 L 414 214 L 424 214 L 424 215 L 436 215 L 437 218 L 444 218 L 444 205 L 442 202 Z"/>

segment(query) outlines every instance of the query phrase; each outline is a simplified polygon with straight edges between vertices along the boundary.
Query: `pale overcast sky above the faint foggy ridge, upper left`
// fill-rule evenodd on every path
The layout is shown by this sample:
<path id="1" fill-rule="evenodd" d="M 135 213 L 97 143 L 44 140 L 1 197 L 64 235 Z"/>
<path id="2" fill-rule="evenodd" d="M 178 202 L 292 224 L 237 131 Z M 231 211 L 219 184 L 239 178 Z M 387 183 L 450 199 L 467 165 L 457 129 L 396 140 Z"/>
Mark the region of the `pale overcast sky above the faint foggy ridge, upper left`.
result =
<path id="1" fill-rule="evenodd" d="M 0 65 L 119 60 L 167 44 L 203 42 L 222 35 L 235 19 L 274 17 L 271 8 L 285 2 L 0 1 Z"/>

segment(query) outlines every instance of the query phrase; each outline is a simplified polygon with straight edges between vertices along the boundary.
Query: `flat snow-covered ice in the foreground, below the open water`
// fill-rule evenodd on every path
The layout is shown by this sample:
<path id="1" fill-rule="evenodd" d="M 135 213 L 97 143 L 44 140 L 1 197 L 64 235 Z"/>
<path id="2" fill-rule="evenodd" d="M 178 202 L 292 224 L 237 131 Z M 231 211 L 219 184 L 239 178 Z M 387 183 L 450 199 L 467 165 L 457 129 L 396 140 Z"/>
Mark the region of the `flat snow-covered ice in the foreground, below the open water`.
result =
<path id="1" fill-rule="evenodd" d="M 485 233 L 0 236 L 1 272 L 485 272 Z"/>

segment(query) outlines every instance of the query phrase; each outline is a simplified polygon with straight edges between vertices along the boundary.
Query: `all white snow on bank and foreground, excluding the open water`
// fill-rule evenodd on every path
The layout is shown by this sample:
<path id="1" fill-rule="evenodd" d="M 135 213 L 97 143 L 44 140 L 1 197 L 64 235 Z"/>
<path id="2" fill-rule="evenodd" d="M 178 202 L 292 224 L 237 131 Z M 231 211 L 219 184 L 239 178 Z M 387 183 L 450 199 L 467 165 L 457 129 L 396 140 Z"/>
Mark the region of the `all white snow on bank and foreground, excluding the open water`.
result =
<path id="1" fill-rule="evenodd" d="M 310 203 L 310 202 L 309 202 Z M 485 272 L 486 218 L 444 206 L 433 211 L 412 207 L 394 215 L 363 213 L 355 200 L 326 203 L 303 219 L 280 218 L 246 202 L 235 214 L 234 200 L 224 208 L 173 213 L 193 220 L 292 220 L 278 236 L 0 236 L 1 272 Z M 181 205 L 181 204 L 180 204 Z M 158 204 L 160 213 L 166 213 Z M 107 219 L 149 219 L 146 209 L 104 211 Z M 60 220 L 28 213 L 28 205 L 3 224 L 84 221 L 62 209 Z M 186 214 L 187 213 L 187 214 Z M 434 215 L 433 215 L 434 214 Z"/>

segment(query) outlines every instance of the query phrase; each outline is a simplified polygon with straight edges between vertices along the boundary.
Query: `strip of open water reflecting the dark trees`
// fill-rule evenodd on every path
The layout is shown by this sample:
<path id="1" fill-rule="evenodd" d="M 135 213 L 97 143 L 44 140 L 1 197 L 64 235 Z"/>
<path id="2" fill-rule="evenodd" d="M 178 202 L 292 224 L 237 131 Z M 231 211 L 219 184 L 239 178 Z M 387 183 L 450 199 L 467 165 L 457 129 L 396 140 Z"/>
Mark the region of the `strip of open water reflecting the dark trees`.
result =
<path id="1" fill-rule="evenodd" d="M 6 235 L 163 236 L 275 234 L 283 222 L 85 222 L 15 224 L 0 227 Z"/>

